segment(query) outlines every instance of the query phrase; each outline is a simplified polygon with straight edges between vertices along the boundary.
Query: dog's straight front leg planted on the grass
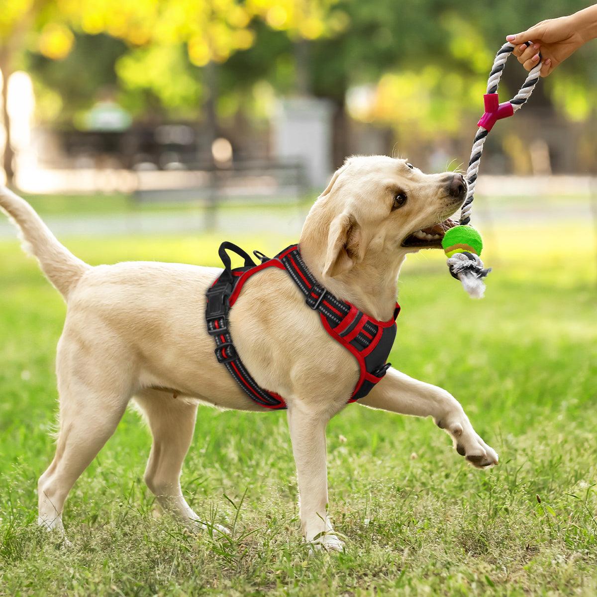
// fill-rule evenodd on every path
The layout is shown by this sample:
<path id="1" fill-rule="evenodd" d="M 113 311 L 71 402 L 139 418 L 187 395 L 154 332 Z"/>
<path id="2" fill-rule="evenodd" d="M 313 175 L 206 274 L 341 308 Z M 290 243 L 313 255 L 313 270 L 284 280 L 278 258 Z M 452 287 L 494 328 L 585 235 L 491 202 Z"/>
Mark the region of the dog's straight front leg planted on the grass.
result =
<path id="1" fill-rule="evenodd" d="M 325 427 L 330 417 L 303 404 L 288 408 L 288 427 L 297 466 L 300 519 L 308 543 L 340 551 L 344 544 L 327 515 L 328 479 L 325 464 Z"/>

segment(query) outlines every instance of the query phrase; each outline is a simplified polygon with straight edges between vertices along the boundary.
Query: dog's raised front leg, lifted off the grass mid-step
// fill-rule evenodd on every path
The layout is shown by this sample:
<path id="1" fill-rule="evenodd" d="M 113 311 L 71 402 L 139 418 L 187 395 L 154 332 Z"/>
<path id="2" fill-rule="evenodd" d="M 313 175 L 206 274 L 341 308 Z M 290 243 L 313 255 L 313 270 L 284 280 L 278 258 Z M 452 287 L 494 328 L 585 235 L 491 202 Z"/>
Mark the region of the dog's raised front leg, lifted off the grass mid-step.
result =
<path id="1" fill-rule="evenodd" d="M 497 454 L 477 435 L 454 396 L 441 387 L 408 377 L 390 368 L 371 392 L 359 400 L 372 408 L 415 417 L 433 417 L 453 438 L 458 454 L 478 468 L 497 464 Z"/>

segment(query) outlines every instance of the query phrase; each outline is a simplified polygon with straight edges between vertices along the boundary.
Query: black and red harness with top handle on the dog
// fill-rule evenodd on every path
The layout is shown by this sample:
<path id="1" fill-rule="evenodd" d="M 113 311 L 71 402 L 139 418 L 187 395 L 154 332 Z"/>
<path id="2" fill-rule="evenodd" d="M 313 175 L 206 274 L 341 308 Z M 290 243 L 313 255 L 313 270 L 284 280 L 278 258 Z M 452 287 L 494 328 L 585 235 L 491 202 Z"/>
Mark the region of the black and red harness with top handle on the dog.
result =
<path id="1" fill-rule="evenodd" d="M 241 256 L 245 260 L 244 266 L 232 269 L 227 250 Z M 307 306 L 319 312 L 325 331 L 350 350 L 358 361 L 359 380 L 348 402 L 367 396 L 390 367 L 386 359 L 396 337 L 395 320 L 400 312 L 399 304 L 396 303 L 392 319 L 377 321 L 359 311 L 353 304 L 340 300 L 322 288 L 304 264 L 298 245 L 291 245 L 272 259 L 260 251 L 253 253 L 261 261 L 259 265 L 232 242 L 223 242 L 220 245 L 219 255 L 224 264 L 224 271 L 208 289 L 205 309 L 207 333 L 216 340 L 215 352 L 218 362 L 226 367 L 251 400 L 272 410 L 287 408 L 282 396 L 260 387 L 251 377 L 236 352 L 228 325 L 228 313 L 245 282 L 266 267 L 278 267 L 290 275 L 304 294 Z"/>

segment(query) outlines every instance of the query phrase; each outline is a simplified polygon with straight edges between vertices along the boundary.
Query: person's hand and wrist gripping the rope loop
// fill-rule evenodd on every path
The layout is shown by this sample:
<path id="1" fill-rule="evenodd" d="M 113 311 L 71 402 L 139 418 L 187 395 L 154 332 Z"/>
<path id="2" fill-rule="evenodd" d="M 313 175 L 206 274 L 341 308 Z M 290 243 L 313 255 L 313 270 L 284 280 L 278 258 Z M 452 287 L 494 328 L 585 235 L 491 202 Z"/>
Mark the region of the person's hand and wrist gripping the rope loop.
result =
<path id="1" fill-rule="evenodd" d="M 543 64 L 540 74 L 549 75 L 553 69 L 592 38 L 595 8 L 589 7 L 571 16 L 541 21 L 522 33 L 506 36 L 507 41 L 516 45 L 512 53 L 525 69 L 531 70 L 537 65 L 539 52 L 541 52 Z M 533 43 L 527 47 L 525 44 L 527 41 Z"/>

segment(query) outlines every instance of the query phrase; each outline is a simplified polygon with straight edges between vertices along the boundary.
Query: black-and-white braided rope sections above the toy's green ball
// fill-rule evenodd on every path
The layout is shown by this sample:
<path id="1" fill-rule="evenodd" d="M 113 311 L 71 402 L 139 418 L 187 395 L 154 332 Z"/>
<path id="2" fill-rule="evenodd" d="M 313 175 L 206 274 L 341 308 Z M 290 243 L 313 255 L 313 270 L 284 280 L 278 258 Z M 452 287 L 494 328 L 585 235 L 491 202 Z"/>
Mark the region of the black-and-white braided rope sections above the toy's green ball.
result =
<path id="1" fill-rule="evenodd" d="M 530 45 L 530 42 L 527 42 L 527 45 Z M 493 61 L 493 67 L 491 68 L 489 79 L 487 81 L 487 93 L 497 93 L 497 87 L 500 84 L 501 73 L 504 70 L 508 56 L 510 56 L 514 48 L 514 45 L 506 42 L 506 44 L 504 44 L 496 54 L 496 58 Z M 522 87 L 518 93 L 510 100 L 510 104 L 512 104 L 512 109 L 514 112 L 521 109 L 529 97 L 531 97 L 531 93 L 533 93 L 535 85 L 537 85 L 539 80 L 541 62 L 541 57 L 539 57 L 537 65 L 531 69 L 531 71 L 528 73 L 527 79 L 525 80 L 524 84 L 522 84 Z M 489 131 L 487 129 L 479 127 L 479 130 L 475 135 L 475 140 L 473 141 L 473 148 L 470 152 L 469 167 L 466 170 L 466 180 L 469 186 L 466 193 L 466 199 L 464 199 L 464 204 L 460 210 L 460 224 L 463 225 L 466 225 L 470 222 L 470 213 L 472 211 L 473 198 L 475 196 L 475 186 L 479 173 L 479 164 L 481 164 L 483 146 L 485 144 L 485 139 L 487 139 L 488 133 Z"/>

